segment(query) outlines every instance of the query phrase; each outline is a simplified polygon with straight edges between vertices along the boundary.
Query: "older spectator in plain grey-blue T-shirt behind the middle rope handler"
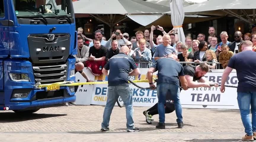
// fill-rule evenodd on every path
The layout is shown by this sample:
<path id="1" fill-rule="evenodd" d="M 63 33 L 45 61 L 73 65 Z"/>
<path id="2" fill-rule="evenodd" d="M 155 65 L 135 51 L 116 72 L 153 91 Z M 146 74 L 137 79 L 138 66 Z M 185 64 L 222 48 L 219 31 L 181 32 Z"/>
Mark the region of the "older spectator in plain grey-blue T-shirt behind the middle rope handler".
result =
<path id="1" fill-rule="evenodd" d="M 175 53 L 175 48 L 169 45 L 170 36 L 169 34 L 164 34 L 163 43 L 156 47 L 154 54 L 154 59 L 157 60 L 161 57 L 167 57 L 169 54 Z"/>

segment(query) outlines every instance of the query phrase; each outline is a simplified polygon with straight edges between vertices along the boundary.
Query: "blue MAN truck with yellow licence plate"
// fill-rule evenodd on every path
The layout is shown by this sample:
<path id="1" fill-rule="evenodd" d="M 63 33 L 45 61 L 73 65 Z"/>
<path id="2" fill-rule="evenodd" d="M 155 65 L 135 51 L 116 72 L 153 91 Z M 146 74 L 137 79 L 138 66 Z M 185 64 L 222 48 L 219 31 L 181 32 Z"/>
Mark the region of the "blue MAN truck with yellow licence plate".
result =
<path id="1" fill-rule="evenodd" d="M 34 113 L 76 100 L 72 0 L 0 0 L 0 110 Z"/>

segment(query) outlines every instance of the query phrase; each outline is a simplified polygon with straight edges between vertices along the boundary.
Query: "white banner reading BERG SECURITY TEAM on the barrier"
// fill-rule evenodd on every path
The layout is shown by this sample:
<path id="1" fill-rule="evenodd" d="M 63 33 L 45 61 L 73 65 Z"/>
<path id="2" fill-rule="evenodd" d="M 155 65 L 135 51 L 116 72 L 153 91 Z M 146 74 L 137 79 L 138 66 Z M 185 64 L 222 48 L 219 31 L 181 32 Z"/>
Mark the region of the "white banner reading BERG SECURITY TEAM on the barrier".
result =
<path id="1" fill-rule="evenodd" d="M 221 83 L 221 72 L 209 72 L 205 75 L 209 81 Z M 237 86 L 238 80 L 235 72 L 231 72 L 226 85 Z M 198 87 L 182 90 L 180 102 L 183 108 L 219 108 L 239 109 L 237 104 L 236 88 L 225 87 L 225 93 L 219 87 Z"/>

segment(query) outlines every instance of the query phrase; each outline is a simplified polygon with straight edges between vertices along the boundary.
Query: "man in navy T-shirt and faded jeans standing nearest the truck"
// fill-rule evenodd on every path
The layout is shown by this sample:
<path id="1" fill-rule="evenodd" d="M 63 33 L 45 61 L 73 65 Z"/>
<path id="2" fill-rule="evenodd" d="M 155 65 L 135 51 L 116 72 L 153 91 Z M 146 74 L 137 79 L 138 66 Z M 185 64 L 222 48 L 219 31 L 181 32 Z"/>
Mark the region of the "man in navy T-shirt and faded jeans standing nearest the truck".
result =
<path id="1" fill-rule="evenodd" d="M 127 46 L 120 48 L 119 54 L 111 57 L 104 66 L 102 73 L 108 77 L 108 97 L 103 113 L 103 122 L 101 123 L 101 131 L 108 131 L 110 115 L 116 100 L 121 97 L 126 109 L 127 132 L 140 131 L 134 127 L 133 115 L 133 100 L 132 89 L 129 87 L 129 76 L 140 74 L 140 70 L 134 60 L 129 57 L 130 49 Z M 132 72 L 130 70 L 132 69 Z M 109 70 L 109 74 L 108 74 Z"/>

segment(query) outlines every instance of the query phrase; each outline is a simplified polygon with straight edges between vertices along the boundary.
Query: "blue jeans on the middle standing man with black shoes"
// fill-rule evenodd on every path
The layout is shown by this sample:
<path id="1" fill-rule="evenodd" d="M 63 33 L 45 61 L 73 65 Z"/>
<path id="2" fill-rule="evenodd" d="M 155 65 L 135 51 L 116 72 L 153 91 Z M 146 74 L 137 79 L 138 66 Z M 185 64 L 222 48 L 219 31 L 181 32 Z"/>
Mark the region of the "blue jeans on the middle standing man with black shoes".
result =
<path id="1" fill-rule="evenodd" d="M 166 94 L 171 95 L 175 105 L 175 112 L 177 116 L 177 123 L 182 122 L 182 108 L 180 104 L 180 88 L 177 85 L 170 83 L 161 83 L 157 85 L 157 97 L 158 97 L 158 113 L 159 123 L 165 121 L 165 109 L 164 104 L 166 103 Z"/>

